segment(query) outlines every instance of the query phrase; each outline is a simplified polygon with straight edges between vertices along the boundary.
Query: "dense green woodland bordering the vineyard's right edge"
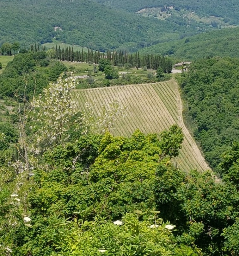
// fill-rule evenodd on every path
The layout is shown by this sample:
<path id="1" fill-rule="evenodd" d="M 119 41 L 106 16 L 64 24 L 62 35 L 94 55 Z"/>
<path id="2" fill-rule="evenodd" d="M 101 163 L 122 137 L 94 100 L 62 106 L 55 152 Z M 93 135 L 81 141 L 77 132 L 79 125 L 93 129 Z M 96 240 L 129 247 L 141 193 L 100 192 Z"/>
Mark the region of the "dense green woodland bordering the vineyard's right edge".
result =
<path id="1" fill-rule="evenodd" d="M 221 174 L 221 156 L 239 138 L 238 74 L 238 58 L 214 57 L 193 62 L 180 82 L 186 120 L 206 160 Z"/>

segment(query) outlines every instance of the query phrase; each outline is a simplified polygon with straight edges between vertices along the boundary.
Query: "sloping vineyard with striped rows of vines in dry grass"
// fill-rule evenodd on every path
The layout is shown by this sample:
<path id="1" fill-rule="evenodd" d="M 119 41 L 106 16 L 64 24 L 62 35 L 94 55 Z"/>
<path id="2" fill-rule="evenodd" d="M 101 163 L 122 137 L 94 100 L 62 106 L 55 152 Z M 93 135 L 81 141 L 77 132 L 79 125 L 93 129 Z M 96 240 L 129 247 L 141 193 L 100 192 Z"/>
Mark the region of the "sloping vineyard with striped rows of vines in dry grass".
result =
<path id="1" fill-rule="evenodd" d="M 175 165 L 182 170 L 208 170 L 209 166 L 202 157 L 195 141 L 185 127 L 182 118 L 182 102 L 178 85 L 174 80 L 156 84 L 115 86 L 75 90 L 79 108 L 85 109 L 85 102 L 95 99 L 101 108 L 118 99 L 127 106 L 127 116 L 118 120 L 111 131 L 114 135 L 131 136 L 139 128 L 144 133 L 159 133 L 173 124 L 182 127 L 184 142 Z"/>

